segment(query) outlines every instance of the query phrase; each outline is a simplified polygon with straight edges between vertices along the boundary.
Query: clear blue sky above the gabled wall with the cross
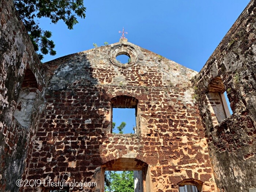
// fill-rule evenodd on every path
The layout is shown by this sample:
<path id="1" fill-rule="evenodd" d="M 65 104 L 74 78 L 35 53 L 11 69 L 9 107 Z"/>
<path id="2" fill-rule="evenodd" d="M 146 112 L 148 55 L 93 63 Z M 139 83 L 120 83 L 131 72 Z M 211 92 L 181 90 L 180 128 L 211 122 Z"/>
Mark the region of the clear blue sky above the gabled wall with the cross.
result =
<path id="1" fill-rule="evenodd" d="M 200 71 L 249 0 L 86 0 L 86 18 L 73 30 L 63 22 L 41 19 L 52 31 L 56 56 L 92 49 L 104 42 L 118 42 L 123 27 L 129 42 Z M 125 120 L 124 120 L 125 121 Z M 127 127 L 132 127 L 134 123 Z M 117 126 L 118 126 L 117 122 Z"/>

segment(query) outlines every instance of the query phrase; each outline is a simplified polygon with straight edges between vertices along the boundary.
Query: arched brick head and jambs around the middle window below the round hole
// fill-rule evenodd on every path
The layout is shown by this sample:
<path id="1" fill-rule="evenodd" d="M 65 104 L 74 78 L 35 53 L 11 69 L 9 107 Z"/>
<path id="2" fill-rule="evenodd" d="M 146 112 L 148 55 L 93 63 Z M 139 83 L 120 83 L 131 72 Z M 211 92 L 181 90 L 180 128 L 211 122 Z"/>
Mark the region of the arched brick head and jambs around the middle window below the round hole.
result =
<path id="1" fill-rule="evenodd" d="M 134 135 L 140 133 L 139 120 L 138 120 L 138 105 L 139 101 L 135 97 L 128 95 L 118 95 L 111 99 L 111 120 L 110 120 L 110 130 L 109 133 L 112 133 L 112 122 L 113 122 L 113 108 L 130 108 L 135 109 L 135 120 L 136 120 L 136 130 Z"/>

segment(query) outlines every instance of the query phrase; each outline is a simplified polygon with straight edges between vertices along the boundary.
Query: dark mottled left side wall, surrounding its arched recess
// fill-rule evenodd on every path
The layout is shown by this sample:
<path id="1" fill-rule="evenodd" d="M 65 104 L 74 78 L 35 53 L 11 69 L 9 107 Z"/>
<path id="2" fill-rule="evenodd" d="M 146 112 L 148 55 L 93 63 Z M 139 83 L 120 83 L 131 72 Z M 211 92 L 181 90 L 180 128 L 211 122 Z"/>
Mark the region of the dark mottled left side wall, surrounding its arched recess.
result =
<path id="1" fill-rule="evenodd" d="M 25 167 L 27 149 L 35 133 L 44 85 L 41 62 L 16 15 L 12 0 L 0 1 L 0 191 L 18 191 L 16 180 Z M 37 79 L 30 126 L 14 117 L 26 69 Z M 29 83 L 29 81 L 27 81 Z M 40 90 L 40 91 L 39 91 Z"/>

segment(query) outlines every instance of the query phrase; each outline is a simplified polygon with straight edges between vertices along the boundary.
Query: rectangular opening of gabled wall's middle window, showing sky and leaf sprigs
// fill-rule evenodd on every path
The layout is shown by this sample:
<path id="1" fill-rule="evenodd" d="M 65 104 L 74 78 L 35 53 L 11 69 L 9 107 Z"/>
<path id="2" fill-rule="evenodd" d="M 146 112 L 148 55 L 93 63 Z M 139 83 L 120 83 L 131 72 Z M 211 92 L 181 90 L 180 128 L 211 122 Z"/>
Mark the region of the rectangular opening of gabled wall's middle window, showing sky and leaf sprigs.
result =
<path id="1" fill-rule="evenodd" d="M 135 108 L 112 108 L 112 133 L 137 134 Z"/>

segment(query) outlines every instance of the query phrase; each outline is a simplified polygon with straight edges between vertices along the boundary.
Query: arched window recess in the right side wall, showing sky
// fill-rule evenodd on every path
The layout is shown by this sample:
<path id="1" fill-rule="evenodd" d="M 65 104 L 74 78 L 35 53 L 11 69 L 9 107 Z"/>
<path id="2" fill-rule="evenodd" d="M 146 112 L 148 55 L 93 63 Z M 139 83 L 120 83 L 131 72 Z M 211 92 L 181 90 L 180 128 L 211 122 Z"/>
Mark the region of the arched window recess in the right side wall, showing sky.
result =
<path id="1" fill-rule="evenodd" d="M 212 79 L 207 87 L 208 109 L 210 110 L 214 126 L 230 116 L 224 95 L 225 89 L 222 78 L 219 76 Z"/>

